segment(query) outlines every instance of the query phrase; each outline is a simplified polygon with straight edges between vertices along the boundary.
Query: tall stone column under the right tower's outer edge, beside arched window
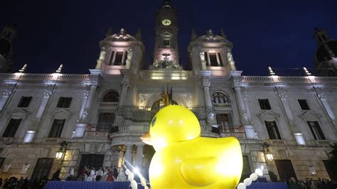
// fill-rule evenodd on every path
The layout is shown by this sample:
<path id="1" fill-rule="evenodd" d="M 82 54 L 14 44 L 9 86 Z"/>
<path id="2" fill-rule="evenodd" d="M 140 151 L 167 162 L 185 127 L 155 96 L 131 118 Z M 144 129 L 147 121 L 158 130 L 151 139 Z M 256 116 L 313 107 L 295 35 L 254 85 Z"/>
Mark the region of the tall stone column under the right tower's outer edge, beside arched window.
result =
<path id="1" fill-rule="evenodd" d="M 239 78 L 237 78 L 233 80 L 233 82 L 234 82 L 235 98 L 240 114 L 240 121 L 244 125 L 247 139 L 256 139 L 254 126 L 250 124 L 250 117 L 247 114 L 245 106 L 244 98 L 246 97 L 246 95 L 242 95 L 241 92 L 241 85 L 240 85 L 241 81 Z"/>

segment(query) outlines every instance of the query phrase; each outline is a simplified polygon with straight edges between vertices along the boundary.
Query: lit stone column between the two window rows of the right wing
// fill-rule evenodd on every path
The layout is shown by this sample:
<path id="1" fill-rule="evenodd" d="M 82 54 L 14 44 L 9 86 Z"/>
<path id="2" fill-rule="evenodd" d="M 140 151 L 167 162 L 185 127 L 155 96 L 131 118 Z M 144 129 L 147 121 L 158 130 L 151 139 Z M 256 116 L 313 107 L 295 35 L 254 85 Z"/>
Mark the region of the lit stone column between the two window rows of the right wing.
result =
<path id="1" fill-rule="evenodd" d="M 286 92 L 279 92 L 278 88 L 275 88 L 277 92 L 277 96 L 279 97 L 279 100 L 282 104 L 282 108 L 284 109 L 284 112 L 286 113 L 286 117 L 289 122 L 289 126 L 291 129 L 292 134 L 294 134 L 294 137 L 296 139 L 296 143 L 299 145 L 306 145 L 303 134 L 299 130 L 299 128 L 295 124 L 294 114 L 291 112 L 289 103 L 287 101 L 287 94 Z"/>

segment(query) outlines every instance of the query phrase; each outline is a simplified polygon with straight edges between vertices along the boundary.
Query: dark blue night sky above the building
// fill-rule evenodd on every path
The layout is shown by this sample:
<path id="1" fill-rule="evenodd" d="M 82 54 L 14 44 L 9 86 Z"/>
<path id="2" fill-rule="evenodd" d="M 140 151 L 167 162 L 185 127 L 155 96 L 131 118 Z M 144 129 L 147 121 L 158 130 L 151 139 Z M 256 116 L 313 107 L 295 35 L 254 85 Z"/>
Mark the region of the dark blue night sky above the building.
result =
<path id="1" fill-rule="evenodd" d="M 198 36 L 223 28 L 233 43 L 233 58 L 242 75 L 267 75 L 267 67 L 313 68 L 317 46 L 314 28 L 337 39 L 337 1 L 171 0 L 178 11 L 179 52 L 187 62 L 192 28 Z M 108 28 L 134 35 L 140 27 L 149 65 L 154 50 L 155 13 L 161 0 L 1 1 L 0 28 L 17 25 L 16 69 L 28 72 L 88 73 L 100 53 Z"/>

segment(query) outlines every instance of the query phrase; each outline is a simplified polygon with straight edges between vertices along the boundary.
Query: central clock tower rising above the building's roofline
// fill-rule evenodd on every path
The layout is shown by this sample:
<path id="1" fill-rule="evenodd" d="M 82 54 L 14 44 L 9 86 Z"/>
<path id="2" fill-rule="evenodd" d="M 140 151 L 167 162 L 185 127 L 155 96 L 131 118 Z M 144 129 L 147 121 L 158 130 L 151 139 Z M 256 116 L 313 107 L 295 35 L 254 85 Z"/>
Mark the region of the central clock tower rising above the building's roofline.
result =
<path id="1" fill-rule="evenodd" d="M 181 68 L 178 55 L 178 22 L 170 0 L 164 0 L 156 13 L 156 42 L 153 68 Z"/>

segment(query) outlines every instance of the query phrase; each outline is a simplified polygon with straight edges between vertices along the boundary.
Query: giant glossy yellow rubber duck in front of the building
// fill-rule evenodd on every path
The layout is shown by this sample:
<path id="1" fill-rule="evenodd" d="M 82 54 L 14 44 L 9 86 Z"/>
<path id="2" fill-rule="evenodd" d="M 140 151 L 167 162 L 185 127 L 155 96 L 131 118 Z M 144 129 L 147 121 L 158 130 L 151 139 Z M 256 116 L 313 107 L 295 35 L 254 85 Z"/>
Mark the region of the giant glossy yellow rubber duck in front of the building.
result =
<path id="1" fill-rule="evenodd" d="M 200 137 L 199 121 L 185 107 L 161 109 L 141 139 L 156 151 L 149 168 L 151 188 L 233 189 L 240 180 L 239 141 Z"/>

